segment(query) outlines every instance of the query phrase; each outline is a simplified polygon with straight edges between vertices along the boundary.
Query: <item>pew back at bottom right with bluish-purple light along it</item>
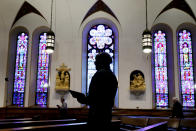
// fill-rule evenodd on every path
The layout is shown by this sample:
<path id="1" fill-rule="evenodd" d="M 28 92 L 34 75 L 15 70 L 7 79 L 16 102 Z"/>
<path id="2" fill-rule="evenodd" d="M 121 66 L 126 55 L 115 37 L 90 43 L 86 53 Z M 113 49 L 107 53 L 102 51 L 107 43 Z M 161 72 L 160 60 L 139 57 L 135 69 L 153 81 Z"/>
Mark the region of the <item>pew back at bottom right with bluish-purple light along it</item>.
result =
<path id="1" fill-rule="evenodd" d="M 134 131 L 167 131 L 167 121 L 149 125 L 144 128 L 136 129 Z"/>

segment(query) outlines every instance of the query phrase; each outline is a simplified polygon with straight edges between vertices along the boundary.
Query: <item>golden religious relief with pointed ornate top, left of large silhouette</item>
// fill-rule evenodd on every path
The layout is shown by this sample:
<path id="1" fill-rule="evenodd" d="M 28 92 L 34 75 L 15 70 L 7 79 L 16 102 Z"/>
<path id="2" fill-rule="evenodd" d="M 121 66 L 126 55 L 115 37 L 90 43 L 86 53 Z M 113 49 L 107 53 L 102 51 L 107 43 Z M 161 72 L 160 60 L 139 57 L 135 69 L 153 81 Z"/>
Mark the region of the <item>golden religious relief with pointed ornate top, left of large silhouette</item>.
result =
<path id="1" fill-rule="evenodd" d="M 56 69 L 56 91 L 68 91 L 70 89 L 70 68 L 62 64 L 59 68 Z"/>

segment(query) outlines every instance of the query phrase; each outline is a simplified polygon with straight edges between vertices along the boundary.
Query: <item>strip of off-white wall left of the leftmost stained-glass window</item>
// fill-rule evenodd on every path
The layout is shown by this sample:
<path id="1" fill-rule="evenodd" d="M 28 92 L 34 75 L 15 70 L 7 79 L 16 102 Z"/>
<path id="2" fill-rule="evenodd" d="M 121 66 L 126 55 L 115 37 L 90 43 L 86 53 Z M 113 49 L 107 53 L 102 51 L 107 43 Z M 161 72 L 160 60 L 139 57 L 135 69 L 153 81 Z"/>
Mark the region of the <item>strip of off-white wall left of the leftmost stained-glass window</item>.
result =
<path id="1" fill-rule="evenodd" d="M 12 2 L 11 0 L 1 1 L 0 8 L 0 107 L 6 105 L 6 68 L 8 56 L 9 30 L 23 1 Z M 11 7 L 11 8 L 10 8 Z"/>

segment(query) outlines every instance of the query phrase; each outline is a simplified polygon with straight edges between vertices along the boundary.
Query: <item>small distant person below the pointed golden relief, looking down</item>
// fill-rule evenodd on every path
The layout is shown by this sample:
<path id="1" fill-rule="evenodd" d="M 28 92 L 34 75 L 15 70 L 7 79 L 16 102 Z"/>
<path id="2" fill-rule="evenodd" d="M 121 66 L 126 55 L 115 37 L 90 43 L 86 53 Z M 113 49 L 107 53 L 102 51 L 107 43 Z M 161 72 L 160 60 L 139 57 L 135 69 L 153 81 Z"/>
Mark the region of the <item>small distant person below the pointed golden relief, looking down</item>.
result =
<path id="1" fill-rule="evenodd" d="M 65 102 L 65 98 L 61 97 L 61 106 L 56 105 L 60 111 L 60 117 L 65 118 L 67 114 L 67 103 Z"/>

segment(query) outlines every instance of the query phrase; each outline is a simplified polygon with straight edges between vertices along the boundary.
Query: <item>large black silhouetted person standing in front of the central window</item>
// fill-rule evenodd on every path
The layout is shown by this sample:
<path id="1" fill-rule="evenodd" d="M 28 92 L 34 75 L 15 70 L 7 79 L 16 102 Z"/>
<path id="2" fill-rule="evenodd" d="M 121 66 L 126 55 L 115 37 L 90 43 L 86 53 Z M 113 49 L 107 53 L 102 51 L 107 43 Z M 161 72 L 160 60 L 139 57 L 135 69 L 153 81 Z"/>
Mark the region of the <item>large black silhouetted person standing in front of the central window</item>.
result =
<path id="1" fill-rule="evenodd" d="M 118 82 L 110 70 L 112 63 L 110 55 L 100 53 L 95 59 L 97 72 L 92 77 L 88 96 L 75 95 L 78 96 L 76 98 L 80 103 L 89 105 L 89 130 L 109 129 Z M 71 93 L 74 97 L 74 93 L 72 91 Z"/>

